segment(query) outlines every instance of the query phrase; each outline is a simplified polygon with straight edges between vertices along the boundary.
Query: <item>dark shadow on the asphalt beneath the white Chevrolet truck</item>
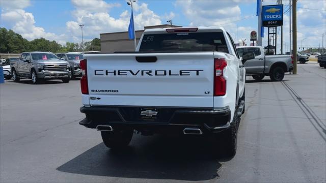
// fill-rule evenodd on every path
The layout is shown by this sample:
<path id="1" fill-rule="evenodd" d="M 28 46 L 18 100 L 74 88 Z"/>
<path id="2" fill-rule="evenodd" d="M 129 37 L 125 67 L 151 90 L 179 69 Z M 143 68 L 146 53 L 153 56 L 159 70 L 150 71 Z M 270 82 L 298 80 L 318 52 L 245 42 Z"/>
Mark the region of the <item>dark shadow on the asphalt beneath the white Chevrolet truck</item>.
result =
<path id="1" fill-rule="evenodd" d="M 207 141 L 198 137 L 135 135 L 124 151 L 100 143 L 57 170 L 124 178 L 210 180 L 219 177 L 219 161 L 228 160 L 213 158 L 209 148 Z"/>

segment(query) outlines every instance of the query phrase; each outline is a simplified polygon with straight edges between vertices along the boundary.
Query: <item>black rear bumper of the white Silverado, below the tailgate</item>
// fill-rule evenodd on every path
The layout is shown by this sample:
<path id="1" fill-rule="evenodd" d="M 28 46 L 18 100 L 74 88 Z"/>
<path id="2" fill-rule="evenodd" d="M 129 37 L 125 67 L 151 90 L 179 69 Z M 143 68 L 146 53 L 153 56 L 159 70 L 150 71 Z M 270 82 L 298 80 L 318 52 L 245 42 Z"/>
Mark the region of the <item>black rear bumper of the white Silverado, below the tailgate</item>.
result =
<path id="1" fill-rule="evenodd" d="M 152 133 L 183 134 L 185 128 L 198 128 L 203 133 L 217 133 L 230 127 L 229 107 L 219 110 L 155 108 L 154 120 L 143 119 L 141 111 L 146 107 L 80 107 L 86 118 L 79 122 L 87 128 L 110 125 L 113 129 L 131 127 Z M 143 116 L 144 117 L 144 116 Z"/>

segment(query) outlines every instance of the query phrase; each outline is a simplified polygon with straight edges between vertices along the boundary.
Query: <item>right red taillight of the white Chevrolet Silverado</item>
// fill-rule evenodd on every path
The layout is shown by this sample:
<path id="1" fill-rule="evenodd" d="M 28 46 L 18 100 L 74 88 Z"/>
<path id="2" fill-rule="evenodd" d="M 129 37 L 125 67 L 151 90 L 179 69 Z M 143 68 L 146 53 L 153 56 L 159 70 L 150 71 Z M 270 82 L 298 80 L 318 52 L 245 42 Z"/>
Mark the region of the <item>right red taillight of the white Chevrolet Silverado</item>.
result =
<path id="1" fill-rule="evenodd" d="M 214 96 L 226 94 L 226 79 L 223 76 L 223 70 L 227 65 L 225 58 L 214 59 Z"/>

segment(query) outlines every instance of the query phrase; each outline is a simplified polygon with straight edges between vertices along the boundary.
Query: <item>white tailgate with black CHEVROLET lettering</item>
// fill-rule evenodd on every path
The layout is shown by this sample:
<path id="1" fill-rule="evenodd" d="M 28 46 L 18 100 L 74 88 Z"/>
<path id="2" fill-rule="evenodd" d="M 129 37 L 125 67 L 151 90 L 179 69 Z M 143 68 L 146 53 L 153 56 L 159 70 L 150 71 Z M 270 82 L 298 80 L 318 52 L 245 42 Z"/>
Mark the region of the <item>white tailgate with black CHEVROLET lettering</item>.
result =
<path id="1" fill-rule="evenodd" d="M 90 105 L 211 108 L 213 54 L 87 54 Z"/>

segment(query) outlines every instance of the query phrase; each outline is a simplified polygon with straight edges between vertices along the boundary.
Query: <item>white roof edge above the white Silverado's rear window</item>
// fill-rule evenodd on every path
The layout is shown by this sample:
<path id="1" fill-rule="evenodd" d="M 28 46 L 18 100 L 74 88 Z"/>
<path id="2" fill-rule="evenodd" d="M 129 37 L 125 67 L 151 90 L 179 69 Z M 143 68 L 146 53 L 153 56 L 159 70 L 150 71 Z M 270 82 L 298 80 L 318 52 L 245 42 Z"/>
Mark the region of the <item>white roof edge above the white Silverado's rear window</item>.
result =
<path id="1" fill-rule="evenodd" d="M 189 27 L 168 27 L 168 28 L 151 28 L 151 29 L 145 29 L 144 34 L 146 33 L 167 33 L 167 30 L 169 29 L 187 29 L 187 28 L 198 28 L 198 31 L 196 32 L 223 32 L 225 29 L 223 27 L 219 26 L 189 26 Z M 195 33 L 195 32 L 194 32 Z"/>

